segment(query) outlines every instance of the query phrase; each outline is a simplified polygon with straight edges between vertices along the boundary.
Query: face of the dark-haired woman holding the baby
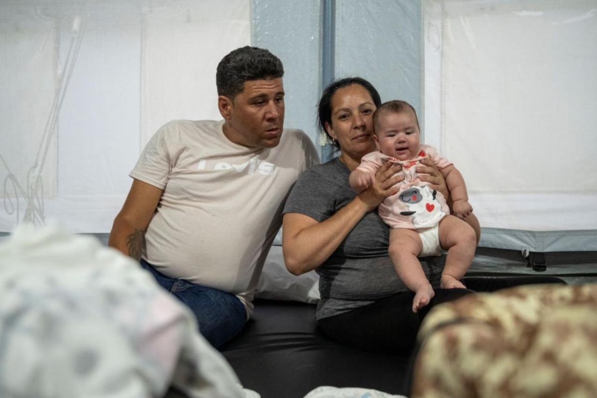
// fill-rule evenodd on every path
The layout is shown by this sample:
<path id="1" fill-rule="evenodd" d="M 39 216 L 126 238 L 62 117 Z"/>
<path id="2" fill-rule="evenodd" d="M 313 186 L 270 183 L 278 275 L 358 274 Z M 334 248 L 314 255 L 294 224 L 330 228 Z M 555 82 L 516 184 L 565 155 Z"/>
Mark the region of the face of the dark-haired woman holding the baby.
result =
<path id="1" fill-rule="evenodd" d="M 359 162 L 375 150 L 373 113 L 376 105 L 363 86 L 353 84 L 338 89 L 331 99 L 331 125 L 325 129 L 340 144 L 341 156 Z"/>

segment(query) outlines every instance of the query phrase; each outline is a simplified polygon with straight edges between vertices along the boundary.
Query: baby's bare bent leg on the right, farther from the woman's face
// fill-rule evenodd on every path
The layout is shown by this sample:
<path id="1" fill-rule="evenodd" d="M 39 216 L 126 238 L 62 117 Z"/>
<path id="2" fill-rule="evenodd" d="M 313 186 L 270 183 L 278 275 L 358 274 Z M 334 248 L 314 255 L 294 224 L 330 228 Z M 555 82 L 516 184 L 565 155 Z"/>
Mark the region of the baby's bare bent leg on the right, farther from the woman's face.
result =
<path id="1" fill-rule="evenodd" d="M 441 287 L 464 288 L 460 279 L 475 257 L 475 230 L 458 217 L 445 216 L 439 222 L 439 242 L 448 250 Z"/>

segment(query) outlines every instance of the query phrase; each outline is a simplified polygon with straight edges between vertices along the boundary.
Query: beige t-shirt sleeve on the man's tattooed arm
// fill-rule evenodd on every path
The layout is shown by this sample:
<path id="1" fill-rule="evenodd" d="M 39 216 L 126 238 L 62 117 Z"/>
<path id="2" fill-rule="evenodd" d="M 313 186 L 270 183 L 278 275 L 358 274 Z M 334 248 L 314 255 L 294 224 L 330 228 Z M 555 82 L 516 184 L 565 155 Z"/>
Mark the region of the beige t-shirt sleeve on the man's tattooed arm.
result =
<path id="1" fill-rule="evenodd" d="M 165 188 L 172 170 L 170 151 L 166 142 L 168 130 L 171 128 L 171 123 L 167 123 L 153 135 L 129 176 L 159 189 Z"/>

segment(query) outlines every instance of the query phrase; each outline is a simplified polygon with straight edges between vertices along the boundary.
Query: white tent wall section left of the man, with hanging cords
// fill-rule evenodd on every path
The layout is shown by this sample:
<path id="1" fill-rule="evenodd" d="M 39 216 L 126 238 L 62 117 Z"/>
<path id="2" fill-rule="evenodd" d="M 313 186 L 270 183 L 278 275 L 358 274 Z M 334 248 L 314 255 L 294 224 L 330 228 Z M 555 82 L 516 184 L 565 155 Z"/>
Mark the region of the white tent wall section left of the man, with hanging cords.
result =
<path id="1" fill-rule="evenodd" d="M 216 65 L 250 26 L 249 0 L 0 2 L 0 232 L 109 232 L 153 132 L 220 119 Z"/>

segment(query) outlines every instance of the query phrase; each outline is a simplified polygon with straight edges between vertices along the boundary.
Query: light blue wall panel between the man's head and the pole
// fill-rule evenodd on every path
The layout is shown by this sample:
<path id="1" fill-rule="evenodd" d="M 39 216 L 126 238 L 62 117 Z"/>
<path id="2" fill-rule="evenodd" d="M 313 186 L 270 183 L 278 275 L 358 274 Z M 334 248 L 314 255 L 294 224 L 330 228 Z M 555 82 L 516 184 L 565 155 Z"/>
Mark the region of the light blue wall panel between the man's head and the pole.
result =
<path id="1" fill-rule="evenodd" d="M 321 1 L 253 0 L 252 42 L 284 64 L 284 126 L 304 130 L 317 148 L 316 104 L 321 87 Z"/>

